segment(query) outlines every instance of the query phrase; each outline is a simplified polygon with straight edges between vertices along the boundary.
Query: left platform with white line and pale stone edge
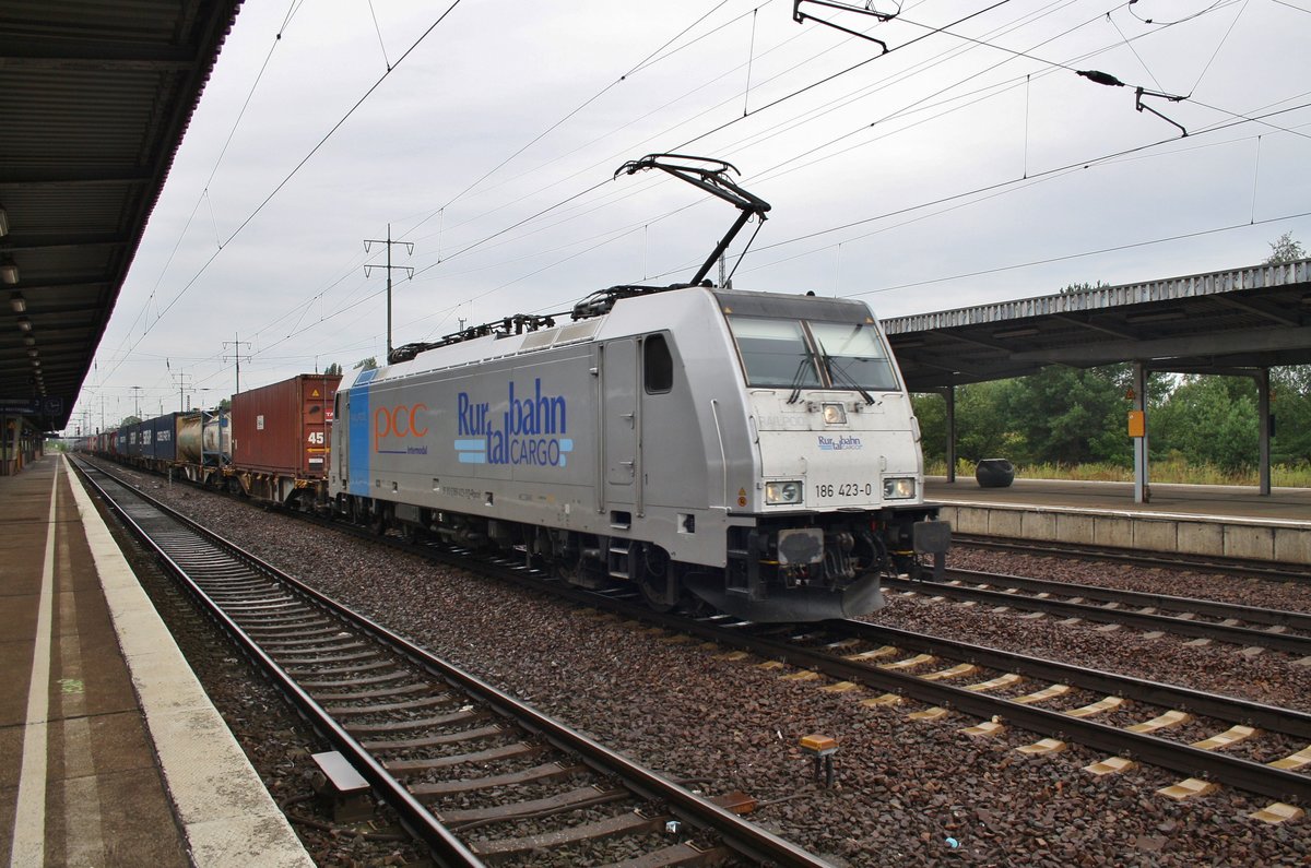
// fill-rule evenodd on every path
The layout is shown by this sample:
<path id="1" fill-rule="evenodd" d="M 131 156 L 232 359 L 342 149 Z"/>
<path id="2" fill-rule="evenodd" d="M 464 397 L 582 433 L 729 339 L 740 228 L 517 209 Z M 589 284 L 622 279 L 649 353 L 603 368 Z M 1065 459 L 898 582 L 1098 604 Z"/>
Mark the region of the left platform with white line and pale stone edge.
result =
<path id="1" fill-rule="evenodd" d="M 0 864 L 313 864 L 59 455 L 0 477 Z"/>

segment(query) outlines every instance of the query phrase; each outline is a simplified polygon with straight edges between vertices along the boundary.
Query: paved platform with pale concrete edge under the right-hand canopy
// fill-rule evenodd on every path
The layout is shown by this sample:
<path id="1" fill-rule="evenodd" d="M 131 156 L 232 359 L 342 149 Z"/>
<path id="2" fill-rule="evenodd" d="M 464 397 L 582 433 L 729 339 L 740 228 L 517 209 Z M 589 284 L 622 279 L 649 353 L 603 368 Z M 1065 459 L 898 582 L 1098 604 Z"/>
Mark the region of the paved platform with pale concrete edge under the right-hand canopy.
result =
<path id="1" fill-rule="evenodd" d="M 1311 566 L 1311 489 L 1152 484 L 1147 503 L 1133 483 L 1016 479 L 982 488 L 973 479 L 927 477 L 960 534 L 1238 557 Z"/>

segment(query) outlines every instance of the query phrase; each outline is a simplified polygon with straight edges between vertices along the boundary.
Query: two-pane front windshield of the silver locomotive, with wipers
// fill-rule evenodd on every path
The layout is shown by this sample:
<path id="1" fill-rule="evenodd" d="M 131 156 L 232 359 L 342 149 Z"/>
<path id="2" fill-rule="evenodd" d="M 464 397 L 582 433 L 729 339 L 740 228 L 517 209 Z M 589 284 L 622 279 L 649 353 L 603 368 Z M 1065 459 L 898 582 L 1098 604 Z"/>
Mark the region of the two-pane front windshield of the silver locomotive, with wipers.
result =
<path id="1" fill-rule="evenodd" d="M 897 391 L 873 325 L 729 316 L 747 385 Z"/>

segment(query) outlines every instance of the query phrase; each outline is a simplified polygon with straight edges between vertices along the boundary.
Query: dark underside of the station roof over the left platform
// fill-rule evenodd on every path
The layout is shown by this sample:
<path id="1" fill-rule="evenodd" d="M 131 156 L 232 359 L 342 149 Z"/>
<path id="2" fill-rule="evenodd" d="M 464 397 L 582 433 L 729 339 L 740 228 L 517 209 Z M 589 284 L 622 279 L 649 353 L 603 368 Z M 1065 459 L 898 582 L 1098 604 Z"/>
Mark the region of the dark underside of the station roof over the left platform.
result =
<path id="1" fill-rule="evenodd" d="M 68 424 L 240 5 L 0 4 L 0 410 Z"/>

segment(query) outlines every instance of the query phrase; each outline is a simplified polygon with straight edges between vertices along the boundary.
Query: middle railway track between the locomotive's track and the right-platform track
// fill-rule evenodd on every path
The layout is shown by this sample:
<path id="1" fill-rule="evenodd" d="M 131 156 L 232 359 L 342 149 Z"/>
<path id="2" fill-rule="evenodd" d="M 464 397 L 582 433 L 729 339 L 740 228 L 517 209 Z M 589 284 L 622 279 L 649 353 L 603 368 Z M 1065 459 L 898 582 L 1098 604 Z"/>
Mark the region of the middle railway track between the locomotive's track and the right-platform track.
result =
<path id="1" fill-rule="evenodd" d="M 941 582 L 893 578 L 884 587 L 1311 657 L 1307 612 L 960 569 L 947 570 Z"/>

